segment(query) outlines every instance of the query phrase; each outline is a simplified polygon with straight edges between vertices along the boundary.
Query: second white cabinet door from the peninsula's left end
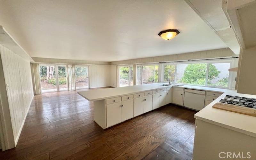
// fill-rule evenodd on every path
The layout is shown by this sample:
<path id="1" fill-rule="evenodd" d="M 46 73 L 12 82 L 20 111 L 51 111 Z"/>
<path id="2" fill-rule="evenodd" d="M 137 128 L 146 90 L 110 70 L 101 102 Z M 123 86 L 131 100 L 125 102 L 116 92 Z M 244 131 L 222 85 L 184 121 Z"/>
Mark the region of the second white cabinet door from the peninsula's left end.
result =
<path id="1" fill-rule="evenodd" d="M 122 102 L 122 121 L 133 117 L 133 100 Z"/>

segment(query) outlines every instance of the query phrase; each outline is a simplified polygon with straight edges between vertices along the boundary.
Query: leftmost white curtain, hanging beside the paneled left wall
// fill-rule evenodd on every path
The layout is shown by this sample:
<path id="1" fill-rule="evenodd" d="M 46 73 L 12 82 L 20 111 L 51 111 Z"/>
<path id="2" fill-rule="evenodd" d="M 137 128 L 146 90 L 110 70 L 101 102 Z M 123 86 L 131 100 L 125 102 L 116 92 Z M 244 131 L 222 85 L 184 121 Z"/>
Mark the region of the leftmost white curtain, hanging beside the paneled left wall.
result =
<path id="1" fill-rule="evenodd" d="M 31 67 L 34 95 L 42 94 L 39 64 L 38 63 L 31 63 L 30 67 Z"/>

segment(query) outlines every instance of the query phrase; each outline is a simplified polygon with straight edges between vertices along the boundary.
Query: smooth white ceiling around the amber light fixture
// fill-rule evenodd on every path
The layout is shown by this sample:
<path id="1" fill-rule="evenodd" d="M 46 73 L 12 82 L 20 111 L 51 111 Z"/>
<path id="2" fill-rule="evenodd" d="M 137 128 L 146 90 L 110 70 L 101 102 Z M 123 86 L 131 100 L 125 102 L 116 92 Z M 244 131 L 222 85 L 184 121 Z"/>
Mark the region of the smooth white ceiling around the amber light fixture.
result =
<path id="1" fill-rule="evenodd" d="M 226 48 L 183 0 L 0 0 L 0 25 L 31 57 L 117 61 Z M 178 29 L 170 41 L 158 32 Z"/>

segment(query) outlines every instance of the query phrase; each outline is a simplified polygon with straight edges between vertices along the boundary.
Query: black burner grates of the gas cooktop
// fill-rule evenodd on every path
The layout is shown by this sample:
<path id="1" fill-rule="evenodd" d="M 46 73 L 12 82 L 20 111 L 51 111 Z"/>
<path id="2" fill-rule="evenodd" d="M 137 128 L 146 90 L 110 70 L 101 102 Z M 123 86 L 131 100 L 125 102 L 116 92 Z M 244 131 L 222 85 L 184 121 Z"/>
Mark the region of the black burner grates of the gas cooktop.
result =
<path id="1" fill-rule="evenodd" d="M 220 100 L 220 102 L 233 104 L 237 106 L 256 108 L 256 99 L 254 98 L 245 98 L 245 97 L 226 95 L 222 100 Z"/>

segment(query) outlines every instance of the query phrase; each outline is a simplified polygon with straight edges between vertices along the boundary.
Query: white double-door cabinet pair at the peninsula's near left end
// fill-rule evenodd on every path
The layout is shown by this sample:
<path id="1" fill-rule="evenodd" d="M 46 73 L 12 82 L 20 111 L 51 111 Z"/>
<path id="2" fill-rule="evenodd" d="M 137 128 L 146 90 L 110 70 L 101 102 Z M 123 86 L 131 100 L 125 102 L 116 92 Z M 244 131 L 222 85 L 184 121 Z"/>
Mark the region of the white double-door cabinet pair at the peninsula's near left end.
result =
<path id="1" fill-rule="evenodd" d="M 133 100 L 106 105 L 107 127 L 118 124 L 133 117 Z"/>

